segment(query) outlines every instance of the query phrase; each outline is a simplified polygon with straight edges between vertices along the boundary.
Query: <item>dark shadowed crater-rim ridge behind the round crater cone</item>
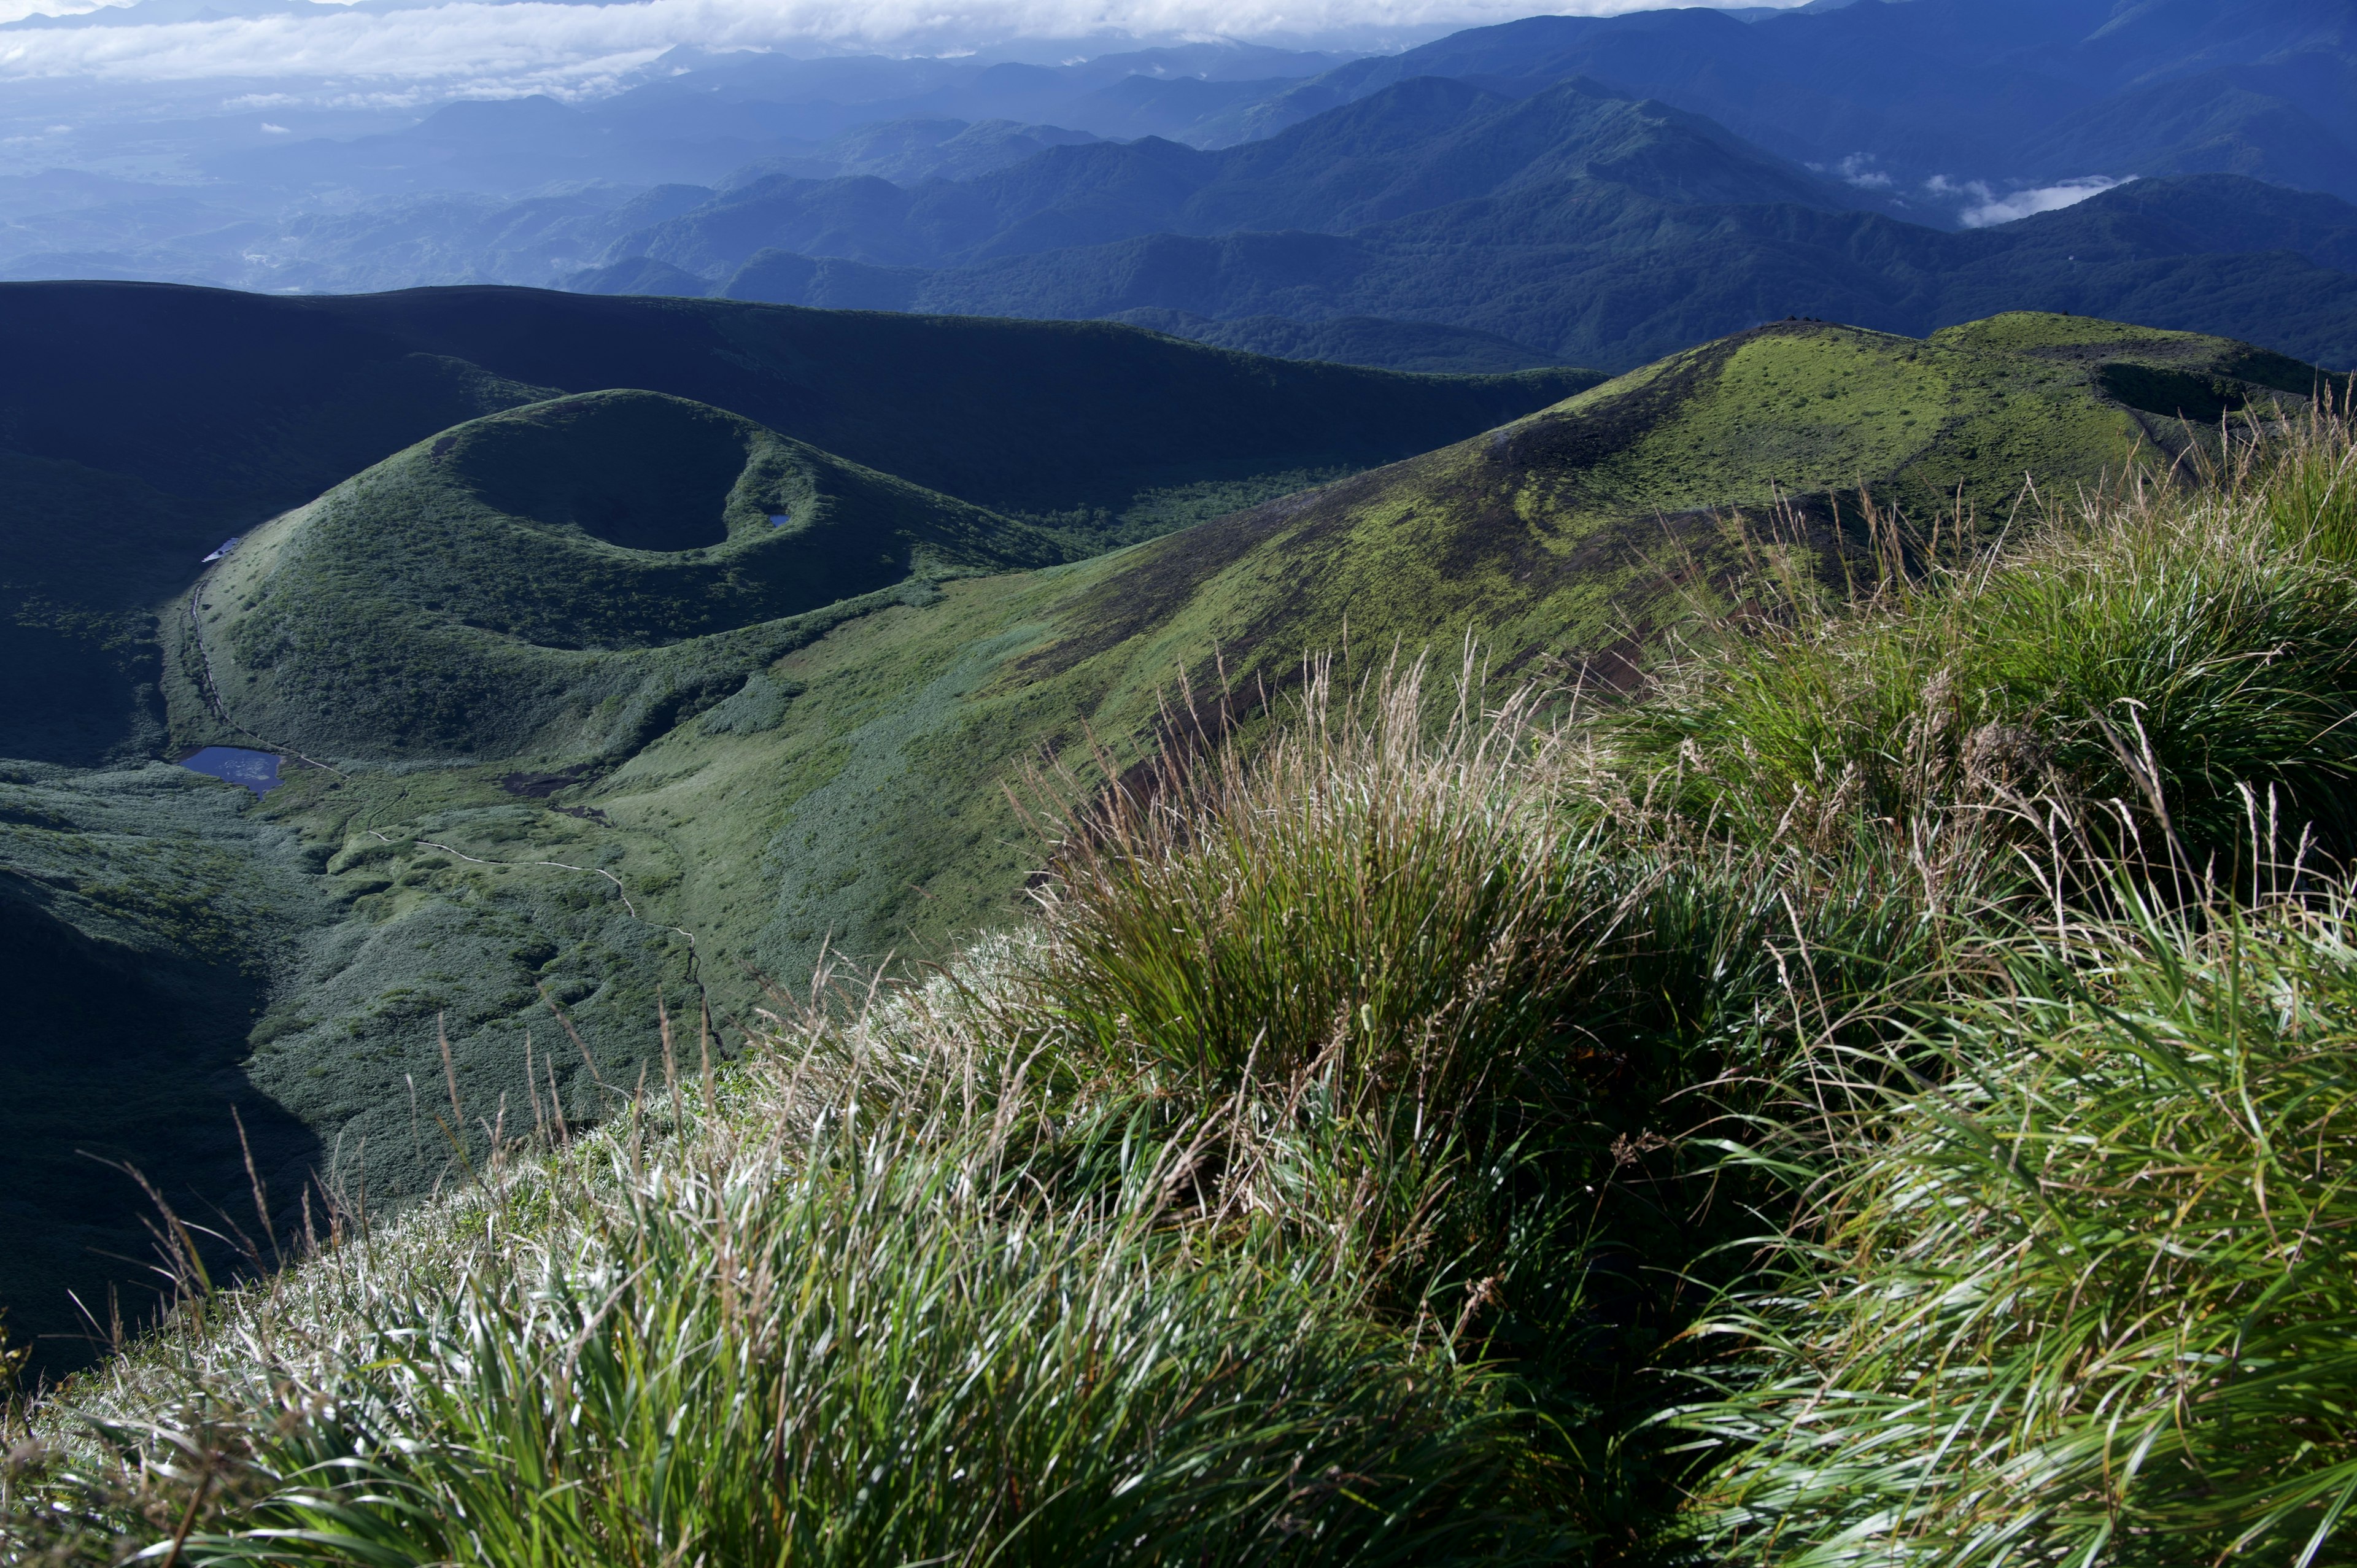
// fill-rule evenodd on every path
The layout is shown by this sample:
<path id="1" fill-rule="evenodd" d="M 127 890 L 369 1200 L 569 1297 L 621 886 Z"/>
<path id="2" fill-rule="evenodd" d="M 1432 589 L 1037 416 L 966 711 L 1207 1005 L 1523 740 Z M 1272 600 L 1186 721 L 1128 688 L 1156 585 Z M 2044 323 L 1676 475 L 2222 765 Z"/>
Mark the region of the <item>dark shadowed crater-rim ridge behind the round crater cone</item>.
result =
<path id="1" fill-rule="evenodd" d="M 0 285 L 0 757 L 160 743 L 153 611 L 226 535 L 561 391 L 726 408 L 959 500 L 1143 538 L 1584 384 L 1256 361 L 1129 328 L 422 290 Z"/>

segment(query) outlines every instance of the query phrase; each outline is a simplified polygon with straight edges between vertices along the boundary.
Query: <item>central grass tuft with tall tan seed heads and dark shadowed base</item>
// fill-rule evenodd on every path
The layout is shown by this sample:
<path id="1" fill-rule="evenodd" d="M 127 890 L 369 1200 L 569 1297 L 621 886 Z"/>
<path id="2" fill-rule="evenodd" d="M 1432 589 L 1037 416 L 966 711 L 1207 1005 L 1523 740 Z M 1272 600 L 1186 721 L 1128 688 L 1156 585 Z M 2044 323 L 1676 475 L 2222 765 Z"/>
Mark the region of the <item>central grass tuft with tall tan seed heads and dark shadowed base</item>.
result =
<path id="1" fill-rule="evenodd" d="M 1704 1134 L 1803 1040 L 1942 995 L 1949 905 L 2018 879 L 1648 811 L 1584 724 L 1527 693 L 1475 712 L 1478 686 L 1313 670 L 1249 766 L 1115 790 L 983 1014 L 1042 1073 L 1124 1085 L 1065 1125 L 1072 1191 L 1091 1146 L 1193 1139 L 1202 1212 L 1511 1370 L 1584 1528 L 1643 1537 L 1671 1490 L 1652 1368 L 1754 1224 Z"/>

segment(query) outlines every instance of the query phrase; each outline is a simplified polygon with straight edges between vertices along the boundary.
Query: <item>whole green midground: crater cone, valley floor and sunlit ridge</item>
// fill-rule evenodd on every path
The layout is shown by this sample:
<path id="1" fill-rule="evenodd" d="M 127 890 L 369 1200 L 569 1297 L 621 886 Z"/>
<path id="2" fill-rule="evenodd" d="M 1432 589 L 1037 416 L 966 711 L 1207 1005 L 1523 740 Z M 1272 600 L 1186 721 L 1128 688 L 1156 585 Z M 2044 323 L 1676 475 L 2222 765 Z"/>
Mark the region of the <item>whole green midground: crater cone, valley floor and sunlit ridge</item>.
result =
<path id="1" fill-rule="evenodd" d="M 823 950 L 943 955 L 1039 868 L 1011 785 L 1252 724 L 1306 653 L 1473 637 L 1501 674 L 1624 681 L 1742 592 L 1730 514 L 1791 500 L 1836 571 L 1860 486 L 1994 523 L 2029 479 L 2095 483 L 2178 450 L 2180 413 L 2315 375 L 2084 318 L 1775 323 L 1098 554 L 679 396 L 457 422 L 153 611 L 172 743 L 288 755 L 285 783 L 247 804 L 163 764 L 7 773 L 0 889 L 40 1002 L 5 1049 L 57 1092 L 0 1144 L 33 1205 L 0 1299 L 66 1332 L 64 1285 L 127 1278 L 85 1243 L 144 1252 L 144 1198 L 78 1148 L 250 1212 L 236 1108 L 280 1226 L 306 1184 L 394 1207 L 502 1115 L 592 1120 L 660 1082 L 658 1004 L 709 1007 L 726 1047 L 764 976 L 801 986 Z M 94 1059 L 87 1030 L 130 1016 L 139 1049 Z"/>

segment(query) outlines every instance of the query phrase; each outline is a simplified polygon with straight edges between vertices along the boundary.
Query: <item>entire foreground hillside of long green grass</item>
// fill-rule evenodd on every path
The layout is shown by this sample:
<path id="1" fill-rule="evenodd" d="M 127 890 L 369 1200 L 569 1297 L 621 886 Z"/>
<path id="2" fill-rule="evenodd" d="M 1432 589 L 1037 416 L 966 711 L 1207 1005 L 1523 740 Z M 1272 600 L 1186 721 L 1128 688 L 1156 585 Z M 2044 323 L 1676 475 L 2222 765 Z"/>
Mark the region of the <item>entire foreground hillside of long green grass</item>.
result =
<path id="1" fill-rule="evenodd" d="M 653 1016 L 603 1132 L 507 1106 L 410 1219 L 257 1193 L 269 1283 L 181 1243 L 177 1323 L 19 1415 L 7 1528 L 2338 1561 L 2357 439 L 2223 429 L 1994 552 L 1737 528 L 1739 613 L 1622 698 L 1178 693 L 1197 745 L 1032 776 L 1016 934 L 724 1068 Z"/>

